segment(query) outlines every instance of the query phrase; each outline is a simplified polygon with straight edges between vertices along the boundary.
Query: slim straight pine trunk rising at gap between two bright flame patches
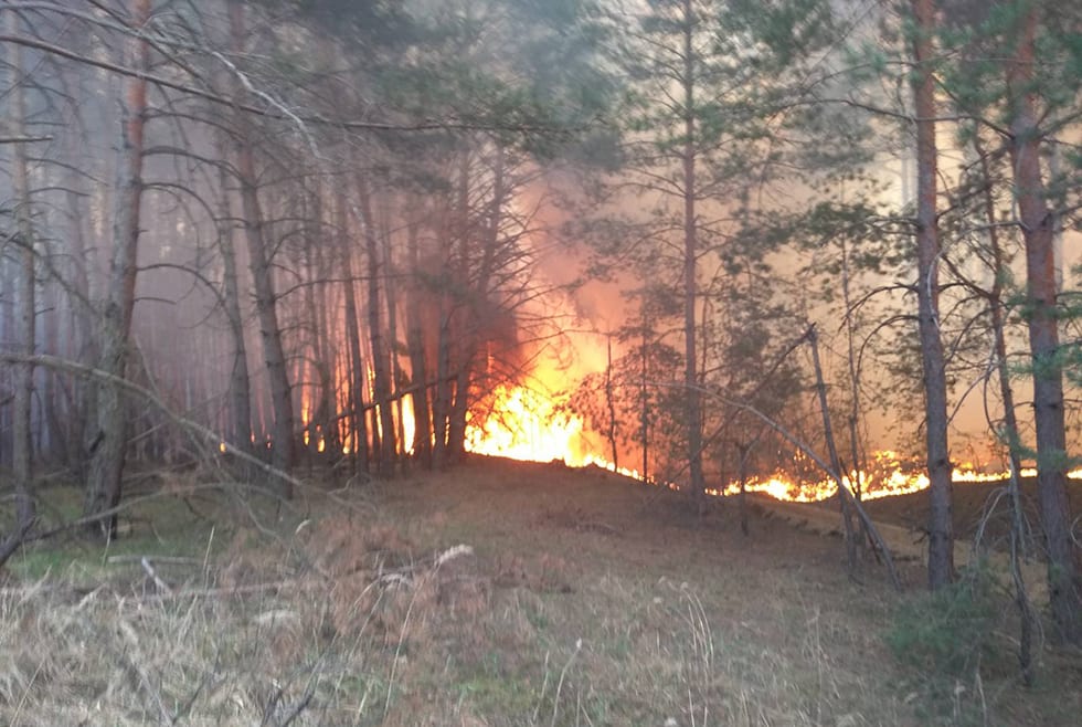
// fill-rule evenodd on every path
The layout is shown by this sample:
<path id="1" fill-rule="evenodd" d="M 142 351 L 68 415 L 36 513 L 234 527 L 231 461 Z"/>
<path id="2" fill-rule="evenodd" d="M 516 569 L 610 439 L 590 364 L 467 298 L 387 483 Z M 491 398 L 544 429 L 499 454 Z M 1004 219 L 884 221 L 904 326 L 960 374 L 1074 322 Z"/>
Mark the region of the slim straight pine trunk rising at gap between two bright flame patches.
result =
<path id="1" fill-rule="evenodd" d="M 702 507 L 706 496 L 706 481 L 702 474 L 702 393 L 699 390 L 699 375 L 696 354 L 696 299 L 698 298 L 697 276 L 697 220 L 696 220 L 696 65 L 692 40 L 694 34 L 694 9 L 691 0 L 683 0 L 683 383 L 687 393 L 686 412 L 688 430 L 688 492 L 698 507 Z"/>

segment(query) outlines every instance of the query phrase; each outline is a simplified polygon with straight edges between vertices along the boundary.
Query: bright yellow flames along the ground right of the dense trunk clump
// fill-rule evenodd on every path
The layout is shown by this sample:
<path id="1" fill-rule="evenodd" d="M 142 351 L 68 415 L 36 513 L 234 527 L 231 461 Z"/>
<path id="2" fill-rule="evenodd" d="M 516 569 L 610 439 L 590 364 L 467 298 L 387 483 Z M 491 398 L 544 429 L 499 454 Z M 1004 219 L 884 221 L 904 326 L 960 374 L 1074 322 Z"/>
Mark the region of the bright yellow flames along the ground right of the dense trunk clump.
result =
<path id="1" fill-rule="evenodd" d="M 616 467 L 606 457 L 590 451 L 582 419 L 561 409 L 534 389 L 500 384 L 484 400 L 480 409 L 492 413 L 485 418 L 471 417 L 467 422 L 468 452 L 526 462 L 558 461 L 571 467 L 597 466 L 639 478 L 637 471 Z M 842 478 L 849 488 L 859 483 L 861 499 L 905 495 L 929 486 L 927 475 L 910 471 L 895 452 L 876 452 L 869 468 L 870 472 L 850 472 Z M 1033 477 L 1037 471 L 1026 467 L 1020 474 L 1022 477 Z M 979 472 L 968 463 L 952 473 L 956 484 L 1005 482 L 1009 477 L 1006 472 Z M 1082 480 L 1082 468 L 1068 473 L 1068 477 Z M 829 478 L 814 483 L 794 482 L 784 473 L 775 473 L 767 478 L 751 478 L 745 483 L 745 489 L 795 503 L 820 502 L 835 496 L 838 491 L 836 483 Z M 740 484 L 730 483 L 723 488 L 708 492 L 719 496 L 735 495 L 740 492 Z"/>

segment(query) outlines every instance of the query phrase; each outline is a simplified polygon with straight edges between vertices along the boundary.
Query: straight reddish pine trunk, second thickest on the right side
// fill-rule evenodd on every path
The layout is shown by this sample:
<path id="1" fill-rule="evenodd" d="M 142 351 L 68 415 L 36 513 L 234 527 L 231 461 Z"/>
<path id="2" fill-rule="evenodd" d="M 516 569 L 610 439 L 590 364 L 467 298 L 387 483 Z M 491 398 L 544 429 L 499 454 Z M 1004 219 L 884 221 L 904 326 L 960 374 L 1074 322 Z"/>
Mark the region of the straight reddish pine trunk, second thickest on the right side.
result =
<path id="1" fill-rule="evenodd" d="M 954 580 L 954 534 L 951 514 L 951 455 L 947 446 L 946 362 L 940 338 L 938 221 L 936 219 L 937 149 L 935 82 L 932 72 L 934 0 L 913 0 L 916 73 L 916 299 L 924 371 L 924 429 L 929 481 L 929 587 Z"/>

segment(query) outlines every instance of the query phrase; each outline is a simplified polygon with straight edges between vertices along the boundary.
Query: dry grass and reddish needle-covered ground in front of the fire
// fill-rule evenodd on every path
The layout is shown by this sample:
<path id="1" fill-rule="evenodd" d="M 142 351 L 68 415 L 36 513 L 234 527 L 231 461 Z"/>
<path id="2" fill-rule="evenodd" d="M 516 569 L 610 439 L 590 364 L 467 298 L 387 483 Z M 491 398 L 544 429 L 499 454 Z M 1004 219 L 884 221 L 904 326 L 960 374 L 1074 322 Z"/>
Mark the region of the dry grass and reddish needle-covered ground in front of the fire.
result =
<path id="1" fill-rule="evenodd" d="M 1021 685 L 1017 619 L 995 588 L 930 599 L 908 554 L 902 594 L 870 557 L 850 578 L 839 537 L 763 498 L 745 537 L 735 501 L 700 516 L 678 493 L 558 464 L 312 477 L 288 506 L 201 481 L 134 488 L 104 551 L 53 539 L 9 563 L 0 724 L 1074 725 L 1082 713 L 1076 652 L 1042 644 Z M 77 510 L 74 491 L 44 499 L 46 518 Z M 905 525 L 915 502 L 879 501 L 876 517 Z"/>

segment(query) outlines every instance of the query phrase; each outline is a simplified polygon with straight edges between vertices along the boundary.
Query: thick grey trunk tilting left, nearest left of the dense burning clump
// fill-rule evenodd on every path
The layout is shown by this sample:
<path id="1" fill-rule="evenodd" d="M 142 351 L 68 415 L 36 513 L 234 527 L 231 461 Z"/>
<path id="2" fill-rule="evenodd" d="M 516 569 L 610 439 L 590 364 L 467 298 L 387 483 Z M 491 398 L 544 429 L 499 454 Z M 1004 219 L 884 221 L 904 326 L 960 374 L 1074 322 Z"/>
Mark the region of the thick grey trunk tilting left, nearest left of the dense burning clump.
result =
<path id="1" fill-rule="evenodd" d="M 244 4 L 230 0 L 230 34 L 233 51 L 244 52 Z M 238 92 L 240 93 L 240 92 Z M 263 356 L 266 360 L 267 376 L 270 380 L 270 404 L 274 409 L 274 428 L 270 435 L 270 463 L 275 468 L 288 472 L 294 462 L 294 410 L 293 390 L 286 365 L 285 349 L 282 345 L 282 329 L 278 326 L 277 297 L 274 292 L 270 260 L 259 208 L 255 159 L 246 119 L 237 115 L 236 169 L 241 183 L 241 207 L 244 217 L 244 238 L 247 243 L 248 265 L 255 287 L 255 308 L 259 319 L 259 337 L 263 341 Z M 278 494 L 293 497 L 293 484 L 280 480 Z"/>

